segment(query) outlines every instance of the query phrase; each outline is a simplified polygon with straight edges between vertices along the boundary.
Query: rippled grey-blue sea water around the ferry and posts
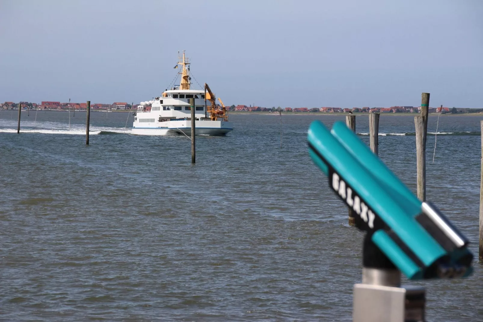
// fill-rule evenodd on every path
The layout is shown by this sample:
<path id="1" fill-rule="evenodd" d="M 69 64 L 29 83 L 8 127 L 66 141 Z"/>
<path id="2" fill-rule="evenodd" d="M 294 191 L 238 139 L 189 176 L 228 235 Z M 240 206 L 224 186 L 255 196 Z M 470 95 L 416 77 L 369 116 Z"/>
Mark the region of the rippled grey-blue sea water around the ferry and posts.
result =
<path id="1" fill-rule="evenodd" d="M 127 113 L 0 111 L 0 319 L 351 321 L 363 234 L 307 153 L 314 119 L 231 115 L 226 137 L 134 136 Z M 441 116 L 427 199 L 477 254 L 478 116 Z M 367 133 L 368 117 L 357 116 Z M 430 115 L 428 131 L 436 132 Z M 415 191 L 412 116 L 382 115 L 379 154 Z M 387 135 L 397 134 L 397 135 Z M 360 136 L 368 142 L 367 135 Z M 483 270 L 431 280 L 428 321 L 482 321 Z"/>

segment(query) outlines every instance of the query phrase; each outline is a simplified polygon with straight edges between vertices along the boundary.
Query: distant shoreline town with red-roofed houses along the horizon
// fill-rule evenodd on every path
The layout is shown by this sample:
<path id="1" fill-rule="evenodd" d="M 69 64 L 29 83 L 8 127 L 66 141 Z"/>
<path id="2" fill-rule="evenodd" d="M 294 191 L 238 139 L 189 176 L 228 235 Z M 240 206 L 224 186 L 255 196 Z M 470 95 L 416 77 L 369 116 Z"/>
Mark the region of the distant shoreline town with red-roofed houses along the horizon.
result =
<path id="1" fill-rule="evenodd" d="M 87 108 L 86 103 L 73 103 L 73 102 L 54 102 L 43 101 L 39 103 L 32 102 L 4 102 L 0 103 L 0 109 L 31 109 L 31 110 L 49 110 L 49 111 L 85 111 Z M 112 104 L 93 103 L 90 105 L 92 110 L 98 111 L 130 111 L 137 110 L 139 104 L 128 104 L 127 102 L 114 102 Z M 148 111 L 151 106 L 144 105 L 144 110 Z M 391 106 L 391 107 L 260 107 L 260 106 L 246 106 L 246 105 L 231 105 L 228 106 L 229 111 L 235 112 L 291 112 L 291 113 L 419 113 L 421 106 Z M 456 108 L 456 107 L 429 107 L 429 113 L 479 113 L 483 112 L 481 108 Z"/>

